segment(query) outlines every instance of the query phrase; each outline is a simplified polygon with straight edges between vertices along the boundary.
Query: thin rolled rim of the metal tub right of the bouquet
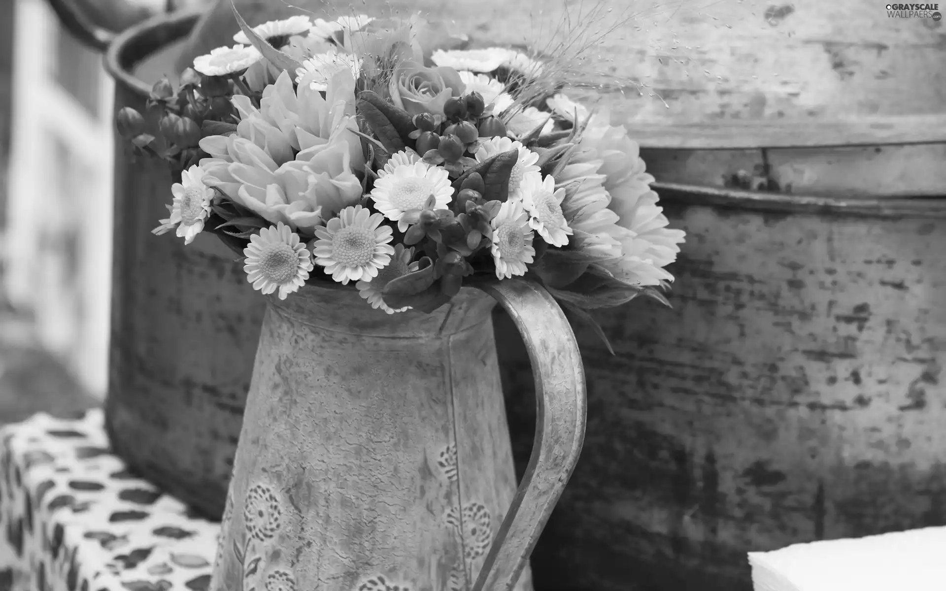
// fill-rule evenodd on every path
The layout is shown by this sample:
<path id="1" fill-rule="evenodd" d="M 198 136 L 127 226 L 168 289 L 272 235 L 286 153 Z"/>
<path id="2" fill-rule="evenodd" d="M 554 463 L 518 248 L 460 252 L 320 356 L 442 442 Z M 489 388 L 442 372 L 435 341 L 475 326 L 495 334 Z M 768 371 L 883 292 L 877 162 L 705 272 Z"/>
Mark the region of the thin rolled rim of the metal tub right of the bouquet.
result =
<path id="1" fill-rule="evenodd" d="M 709 205 L 773 214 L 830 215 L 833 217 L 946 217 L 946 199 L 888 198 L 843 200 L 832 197 L 760 193 L 683 183 L 653 183 L 660 199 L 685 205 Z M 946 197 L 946 196 L 944 196 Z"/>

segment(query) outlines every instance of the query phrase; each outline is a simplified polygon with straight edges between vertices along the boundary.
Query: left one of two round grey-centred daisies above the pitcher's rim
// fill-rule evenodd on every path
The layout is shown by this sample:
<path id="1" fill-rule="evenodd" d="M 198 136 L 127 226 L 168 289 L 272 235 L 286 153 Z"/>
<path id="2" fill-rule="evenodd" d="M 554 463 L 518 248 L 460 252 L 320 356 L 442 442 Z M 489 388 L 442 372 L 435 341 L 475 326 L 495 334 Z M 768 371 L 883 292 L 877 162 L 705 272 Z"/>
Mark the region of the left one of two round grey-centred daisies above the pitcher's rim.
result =
<path id="1" fill-rule="evenodd" d="M 303 287 L 314 269 L 305 243 L 281 221 L 250 236 L 243 255 L 247 281 L 264 295 L 278 288 L 280 300 Z"/>

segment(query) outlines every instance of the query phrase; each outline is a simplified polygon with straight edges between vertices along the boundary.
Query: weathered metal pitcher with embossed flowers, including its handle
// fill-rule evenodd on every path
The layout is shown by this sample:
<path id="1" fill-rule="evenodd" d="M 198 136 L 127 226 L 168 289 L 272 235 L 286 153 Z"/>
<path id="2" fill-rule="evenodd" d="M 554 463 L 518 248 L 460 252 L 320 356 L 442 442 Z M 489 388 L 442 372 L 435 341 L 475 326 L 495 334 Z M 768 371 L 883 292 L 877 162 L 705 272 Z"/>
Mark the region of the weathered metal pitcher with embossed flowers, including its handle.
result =
<path id="1" fill-rule="evenodd" d="M 303 287 L 263 321 L 212 590 L 533 588 L 529 553 L 581 448 L 584 379 L 548 293 L 487 290 L 538 378 L 518 492 L 490 297 L 464 287 L 432 314 L 389 315 L 350 287 Z"/>

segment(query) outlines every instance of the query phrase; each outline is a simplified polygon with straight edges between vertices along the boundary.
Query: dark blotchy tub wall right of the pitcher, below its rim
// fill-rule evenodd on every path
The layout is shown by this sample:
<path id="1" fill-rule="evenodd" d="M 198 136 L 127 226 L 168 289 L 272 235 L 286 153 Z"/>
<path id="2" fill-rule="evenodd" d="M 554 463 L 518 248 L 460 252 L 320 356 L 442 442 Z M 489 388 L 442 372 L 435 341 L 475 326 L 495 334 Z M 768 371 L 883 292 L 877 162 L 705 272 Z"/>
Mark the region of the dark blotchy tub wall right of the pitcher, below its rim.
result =
<path id="1" fill-rule="evenodd" d="M 746 551 L 946 524 L 946 205 L 661 196 L 688 235 L 674 309 L 596 312 L 616 356 L 576 331 L 585 450 L 536 588 L 748 591 Z M 522 470 L 534 414 L 507 399 Z"/>

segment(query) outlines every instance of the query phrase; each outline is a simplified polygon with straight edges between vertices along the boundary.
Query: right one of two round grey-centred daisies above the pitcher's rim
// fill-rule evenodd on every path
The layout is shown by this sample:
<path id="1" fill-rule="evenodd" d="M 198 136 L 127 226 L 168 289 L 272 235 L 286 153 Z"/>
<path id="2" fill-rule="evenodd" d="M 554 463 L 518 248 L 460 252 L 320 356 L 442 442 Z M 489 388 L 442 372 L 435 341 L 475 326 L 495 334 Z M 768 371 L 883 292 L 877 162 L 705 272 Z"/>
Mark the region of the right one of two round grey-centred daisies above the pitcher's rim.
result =
<path id="1" fill-rule="evenodd" d="M 343 286 L 349 281 L 371 281 L 394 254 L 394 248 L 388 244 L 394 235 L 389 226 L 381 225 L 382 221 L 384 216 L 372 214 L 360 205 L 342 209 L 339 217 L 315 229 L 315 263 Z"/>

